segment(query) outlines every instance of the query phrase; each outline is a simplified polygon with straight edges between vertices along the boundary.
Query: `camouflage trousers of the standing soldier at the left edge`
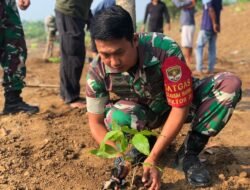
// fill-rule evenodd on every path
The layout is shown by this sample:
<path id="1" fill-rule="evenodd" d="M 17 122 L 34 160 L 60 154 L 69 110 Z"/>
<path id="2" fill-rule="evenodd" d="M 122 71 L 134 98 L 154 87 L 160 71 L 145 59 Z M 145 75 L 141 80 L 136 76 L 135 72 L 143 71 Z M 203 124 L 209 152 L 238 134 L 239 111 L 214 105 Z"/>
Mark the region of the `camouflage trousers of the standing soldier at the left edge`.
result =
<path id="1" fill-rule="evenodd" d="M 0 62 L 4 71 L 5 91 L 24 87 L 26 58 L 26 43 L 16 1 L 0 1 Z"/>

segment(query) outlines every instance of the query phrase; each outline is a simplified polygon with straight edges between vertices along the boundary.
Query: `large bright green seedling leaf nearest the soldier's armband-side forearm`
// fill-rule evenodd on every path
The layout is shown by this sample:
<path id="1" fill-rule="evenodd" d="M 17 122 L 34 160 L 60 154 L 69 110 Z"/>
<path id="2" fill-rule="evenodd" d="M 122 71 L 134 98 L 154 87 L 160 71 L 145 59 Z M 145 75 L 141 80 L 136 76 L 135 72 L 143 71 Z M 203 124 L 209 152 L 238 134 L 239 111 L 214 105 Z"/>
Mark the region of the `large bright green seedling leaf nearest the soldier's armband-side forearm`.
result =
<path id="1" fill-rule="evenodd" d="M 144 135 L 140 133 L 136 134 L 132 138 L 132 144 L 141 153 L 145 155 L 149 155 L 149 142 L 148 142 L 148 139 Z"/>

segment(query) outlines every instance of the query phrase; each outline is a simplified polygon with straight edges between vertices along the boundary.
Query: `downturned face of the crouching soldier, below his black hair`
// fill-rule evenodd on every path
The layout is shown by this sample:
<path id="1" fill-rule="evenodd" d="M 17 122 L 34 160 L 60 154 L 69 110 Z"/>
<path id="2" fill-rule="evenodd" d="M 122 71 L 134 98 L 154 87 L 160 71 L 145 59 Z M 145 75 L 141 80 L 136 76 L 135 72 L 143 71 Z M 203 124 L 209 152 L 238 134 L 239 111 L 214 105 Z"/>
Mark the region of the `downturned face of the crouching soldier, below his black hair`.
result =
<path id="1" fill-rule="evenodd" d="M 102 62 L 118 72 L 128 71 L 137 62 L 138 36 L 132 43 L 125 38 L 119 40 L 95 40 Z"/>

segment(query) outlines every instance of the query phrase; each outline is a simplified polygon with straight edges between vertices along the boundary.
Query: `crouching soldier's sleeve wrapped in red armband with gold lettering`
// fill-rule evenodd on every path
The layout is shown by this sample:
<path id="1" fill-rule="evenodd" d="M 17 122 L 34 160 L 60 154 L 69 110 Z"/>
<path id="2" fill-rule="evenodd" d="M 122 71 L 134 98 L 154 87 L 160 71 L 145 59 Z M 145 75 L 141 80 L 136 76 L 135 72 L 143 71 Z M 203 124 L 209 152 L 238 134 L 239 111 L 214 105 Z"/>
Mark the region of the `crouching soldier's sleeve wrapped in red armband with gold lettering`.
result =
<path id="1" fill-rule="evenodd" d="M 176 43 L 170 44 L 161 66 L 167 102 L 172 107 L 188 106 L 193 100 L 192 72 L 180 47 Z"/>

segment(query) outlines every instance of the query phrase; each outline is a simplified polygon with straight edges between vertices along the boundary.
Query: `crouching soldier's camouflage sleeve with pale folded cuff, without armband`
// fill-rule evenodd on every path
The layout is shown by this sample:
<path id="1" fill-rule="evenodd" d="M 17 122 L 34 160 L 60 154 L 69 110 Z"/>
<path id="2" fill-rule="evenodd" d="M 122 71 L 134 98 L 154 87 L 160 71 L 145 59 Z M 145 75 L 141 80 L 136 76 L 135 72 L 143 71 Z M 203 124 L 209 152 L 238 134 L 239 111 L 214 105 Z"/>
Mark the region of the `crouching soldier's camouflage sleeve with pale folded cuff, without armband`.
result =
<path id="1" fill-rule="evenodd" d="M 97 64 L 90 64 L 86 80 L 87 111 L 90 113 L 104 113 L 109 100 L 109 93 L 105 88 L 105 78 Z M 99 64 L 100 65 L 100 64 Z"/>

